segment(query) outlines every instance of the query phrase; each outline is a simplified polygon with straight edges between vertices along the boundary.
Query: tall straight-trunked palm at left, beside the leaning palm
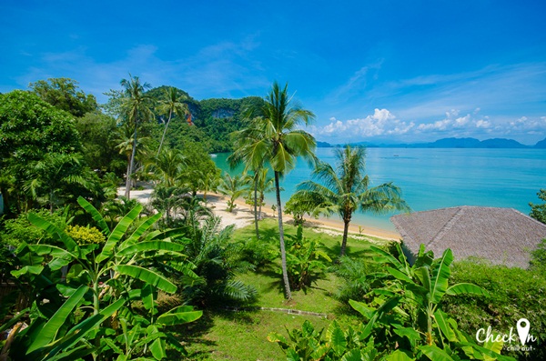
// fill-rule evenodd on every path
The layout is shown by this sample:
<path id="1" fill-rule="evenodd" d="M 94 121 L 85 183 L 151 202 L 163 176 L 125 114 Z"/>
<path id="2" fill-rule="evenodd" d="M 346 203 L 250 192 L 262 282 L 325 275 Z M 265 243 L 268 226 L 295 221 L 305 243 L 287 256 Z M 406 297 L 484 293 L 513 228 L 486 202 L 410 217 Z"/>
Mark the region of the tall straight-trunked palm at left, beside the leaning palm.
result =
<path id="1" fill-rule="evenodd" d="M 133 144 L 131 146 L 131 156 L 127 165 L 126 175 L 126 198 L 131 197 L 131 175 L 135 168 L 136 155 L 136 134 L 142 123 L 154 117 L 151 108 L 153 99 L 145 92 L 151 87 L 147 83 L 141 83 L 138 76 L 129 74 L 129 79 L 122 79 L 121 86 L 125 88 L 124 97 L 121 99 L 121 115 L 123 121 L 129 124 L 133 130 Z"/>

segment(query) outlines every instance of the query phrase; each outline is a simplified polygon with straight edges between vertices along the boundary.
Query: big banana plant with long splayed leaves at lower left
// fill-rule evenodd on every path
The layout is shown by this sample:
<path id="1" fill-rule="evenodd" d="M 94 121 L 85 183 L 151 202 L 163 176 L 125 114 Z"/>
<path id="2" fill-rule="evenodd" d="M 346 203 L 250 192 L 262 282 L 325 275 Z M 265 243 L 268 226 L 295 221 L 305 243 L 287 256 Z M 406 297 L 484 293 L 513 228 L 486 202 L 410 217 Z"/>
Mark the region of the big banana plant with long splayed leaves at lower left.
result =
<path id="1" fill-rule="evenodd" d="M 49 282 L 49 288 L 53 286 L 66 298 L 66 301 L 55 315 L 46 321 L 48 315 L 41 312 L 39 307 L 44 302 L 40 299 L 36 300 L 33 308 L 35 311 L 31 313 L 31 325 L 17 336 L 19 344 L 27 346 L 25 357 L 42 355 L 43 351 L 50 346 L 55 346 L 53 350 L 59 354 L 58 357 L 70 358 L 72 356 L 68 356 L 69 353 L 77 353 L 77 355 L 91 353 L 94 359 L 99 359 L 101 351 L 116 353 L 121 349 L 119 346 L 115 347 L 116 342 L 113 340 L 116 340 L 116 335 L 120 332 L 125 335 L 129 333 L 127 331 L 129 327 L 136 326 L 138 329 L 143 325 L 142 316 L 134 314 L 131 306 L 134 301 L 139 300 L 144 302 L 151 315 L 149 320 L 144 322 L 147 326 L 147 336 L 136 332 L 134 335 L 138 335 L 139 338 L 135 344 L 142 347 L 132 345 L 131 351 L 120 353 L 118 359 L 130 359 L 131 355 L 135 355 L 136 349 L 141 353 L 150 350 L 152 356 L 161 359 L 165 355 L 165 342 L 162 343 L 165 339 L 176 348 L 182 349 L 174 337 L 160 332 L 160 328 L 192 322 L 202 314 L 200 311 L 193 311 L 187 307 L 177 307 L 166 314 L 156 316 L 156 308 L 149 306 L 150 302 L 154 303 L 154 298 L 149 296 L 157 290 L 175 293 L 177 286 L 166 276 L 148 266 L 162 256 L 176 259 L 178 262 L 175 263 L 178 264 L 182 259 L 189 266 L 178 268 L 187 276 L 197 278 L 197 275 L 191 271 L 191 264 L 182 254 L 185 240 L 179 239 L 177 232 L 173 230 L 159 232 L 151 229 L 161 217 L 160 214 L 136 224 L 142 210 L 141 205 L 135 206 L 114 229 L 110 230 L 105 219 L 94 206 L 82 197 L 78 198 L 78 203 L 93 217 L 105 236 L 105 242 L 102 245 L 78 246 L 74 239 L 59 227 L 34 214 L 28 216 L 33 225 L 44 229 L 64 247 L 45 244 L 22 245 L 18 250 L 19 255 L 23 256 L 23 259 L 32 259 L 34 262 L 12 274 L 17 277 L 31 275 L 45 278 Z M 47 262 L 37 263 L 36 260 Z M 69 267 L 66 281 L 55 277 L 56 272 L 66 266 Z M 87 312 L 87 309 L 90 309 L 90 312 Z M 76 316 L 76 310 L 80 316 Z M 82 313 L 85 319 L 81 323 L 86 327 L 86 332 L 83 333 L 81 329 L 76 328 L 76 325 L 70 328 L 68 333 L 64 333 L 74 319 L 81 317 Z M 107 325 L 101 325 L 106 318 L 108 318 Z M 119 324 L 121 328 L 117 326 Z M 57 330 L 60 332 L 59 335 L 65 336 L 57 335 Z M 44 335 L 47 336 L 44 337 Z M 68 336 L 69 343 L 62 341 Z M 126 336 L 125 340 L 128 339 L 129 337 Z M 53 354 L 47 352 L 46 355 L 47 358 L 41 356 L 32 356 L 32 358 L 49 359 Z"/>

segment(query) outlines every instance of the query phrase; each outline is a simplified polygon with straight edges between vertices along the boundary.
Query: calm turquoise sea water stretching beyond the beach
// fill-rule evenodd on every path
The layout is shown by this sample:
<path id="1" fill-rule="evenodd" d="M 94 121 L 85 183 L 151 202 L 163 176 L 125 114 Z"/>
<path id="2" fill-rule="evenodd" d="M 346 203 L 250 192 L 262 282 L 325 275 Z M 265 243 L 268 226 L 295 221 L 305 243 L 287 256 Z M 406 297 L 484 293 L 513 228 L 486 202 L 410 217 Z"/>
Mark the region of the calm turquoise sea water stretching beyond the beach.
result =
<path id="1" fill-rule="evenodd" d="M 218 167 L 231 174 L 228 154 L 218 154 Z M 332 148 L 318 148 L 319 159 L 335 164 Z M 372 186 L 393 182 L 402 189 L 413 211 L 450 206 L 511 207 L 529 214 L 529 202 L 541 203 L 536 196 L 546 188 L 546 149 L 407 149 L 368 148 L 367 174 Z M 310 179 L 311 167 L 298 159 L 296 168 L 282 180 L 284 202 L 298 183 Z M 271 176 L 273 174 L 271 173 Z M 271 205 L 274 194 L 266 197 Z M 357 212 L 351 224 L 394 231 L 389 217 Z M 336 217 L 336 216 L 332 216 Z"/>

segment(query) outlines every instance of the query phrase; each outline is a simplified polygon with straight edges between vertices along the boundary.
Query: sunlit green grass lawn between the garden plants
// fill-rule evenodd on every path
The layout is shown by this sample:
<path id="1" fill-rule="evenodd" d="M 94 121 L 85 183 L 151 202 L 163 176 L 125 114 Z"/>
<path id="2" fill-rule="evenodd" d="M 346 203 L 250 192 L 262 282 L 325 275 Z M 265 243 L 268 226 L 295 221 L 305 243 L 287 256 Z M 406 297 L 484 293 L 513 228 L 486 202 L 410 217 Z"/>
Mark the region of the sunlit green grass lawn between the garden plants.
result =
<path id="1" fill-rule="evenodd" d="M 275 219 L 265 219 L 259 225 L 263 242 L 278 247 L 278 224 Z M 286 235 L 296 235 L 297 227 L 285 225 Z M 242 241 L 255 236 L 254 226 L 247 226 L 235 231 L 234 241 Z M 330 236 L 304 229 L 308 240 L 317 240 L 332 259 L 339 256 L 341 236 Z M 371 240 L 374 244 L 384 244 L 379 239 Z M 371 245 L 368 241 L 349 239 L 348 255 L 366 256 Z M 310 287 L 292 292 L 292 300 L 284 298 L 279 265 L 260 268 L 257 272 L 240 275 L 239 278 L 258 289 L 258 300 L 254 306 L 278 307 L 311 311 L 328 315 L 328 319 L 319 316 L 299 316 L 267 310 L 228 311 L 207 310 L 196 323 L 187 326 L 182 338 L 187 341 L 191 360 L 281 360 L 285 355 L 277 344 L 268 342 L 268 334 L 278 332 L 286 335 L 286 328 L 299 328 L 308 319 L 317 328 L 328 327 L 332 319 L 342 323 L 358 324 L 358 316 L 348 313 L 347 307 L 339 303 L 334 295 L 341 280 L 333 273 L 326 273 L 316 279 Z M 186 335 L 186 336 L 185 336 Z"/>

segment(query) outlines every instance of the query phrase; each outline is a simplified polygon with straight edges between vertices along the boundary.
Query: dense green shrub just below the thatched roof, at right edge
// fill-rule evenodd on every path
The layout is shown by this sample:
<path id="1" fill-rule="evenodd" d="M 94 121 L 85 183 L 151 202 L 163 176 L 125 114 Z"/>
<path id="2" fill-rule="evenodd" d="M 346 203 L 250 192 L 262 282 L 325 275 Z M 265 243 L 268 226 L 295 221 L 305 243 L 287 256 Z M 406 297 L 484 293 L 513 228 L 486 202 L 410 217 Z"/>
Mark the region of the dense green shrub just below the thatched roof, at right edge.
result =
<path id="1" fill-rule="evenodd" d="M 443 309 L 458 322 L 460 329 L 476 335 L 480 328 L 508 333 L 524 317 L 531 323 L 531 335 L 546 341 L 546 278 L 539 272 L 506 266 L 491 266 L 467 260 L 453 266 L 451 282 L 470 282 L 489 291 L 489 296 L 450 297 Z M 508 353 L 519 359 L 546 359 L 546 348 L 531 344 L 533 351 Z"/>

